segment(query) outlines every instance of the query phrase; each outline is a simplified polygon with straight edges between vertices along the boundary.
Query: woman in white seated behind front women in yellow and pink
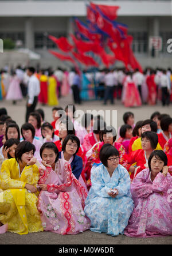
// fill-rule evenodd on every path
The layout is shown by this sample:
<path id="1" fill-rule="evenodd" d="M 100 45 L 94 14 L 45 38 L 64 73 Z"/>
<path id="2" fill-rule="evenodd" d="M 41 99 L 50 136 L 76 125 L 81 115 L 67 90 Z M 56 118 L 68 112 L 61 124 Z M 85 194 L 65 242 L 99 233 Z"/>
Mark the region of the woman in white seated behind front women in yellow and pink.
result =
<path id="1" fill-rule="evenodd" d="M 29 141 L 35 146 L 36 151 L 34 152 L 34 157 L 36 157 L 38 162 L 41 163 L 40 148 L 42 146 L 42 142 L 34 137 L 35 129 L 33 125 L 31 123 L 24 123 L 21 127 L 21 134 L 25 141 Z"/>

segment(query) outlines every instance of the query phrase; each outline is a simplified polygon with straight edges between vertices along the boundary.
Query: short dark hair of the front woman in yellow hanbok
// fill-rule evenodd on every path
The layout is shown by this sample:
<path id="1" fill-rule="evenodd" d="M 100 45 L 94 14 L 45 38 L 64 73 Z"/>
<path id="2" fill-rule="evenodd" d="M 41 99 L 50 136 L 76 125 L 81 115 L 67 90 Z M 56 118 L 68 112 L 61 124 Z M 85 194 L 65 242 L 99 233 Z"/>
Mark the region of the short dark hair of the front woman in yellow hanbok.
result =
<path id="1" fill-rule="evenodd" d="M 30 143 L 29 141 L 20 142 L 15 149 L 16 161 L 18 162 L 19 160 L 21 160 L 22 155 L 26 152 L 30 152 L 31 150 L 33 150 L 33 154 L 36 151 L 36 148 L 32 143 Z"/>

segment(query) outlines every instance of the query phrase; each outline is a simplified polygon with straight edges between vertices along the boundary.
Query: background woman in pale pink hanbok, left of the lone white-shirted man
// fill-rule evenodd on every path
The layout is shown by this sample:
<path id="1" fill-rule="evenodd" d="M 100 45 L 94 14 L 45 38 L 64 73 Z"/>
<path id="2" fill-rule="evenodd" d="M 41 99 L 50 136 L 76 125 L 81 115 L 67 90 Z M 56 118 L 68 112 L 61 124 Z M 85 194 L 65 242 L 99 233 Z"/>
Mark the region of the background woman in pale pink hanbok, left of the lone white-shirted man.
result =
<path id="1" fill-rule="evenodd" d="M 13 104 L 16 103 L 16 100 L 22 100 L 23 98 L 19 84 L 20 80 L 14 72 L 10 78 L 10 85 L 6 95 L 6 100 L 13 100 Z"/>

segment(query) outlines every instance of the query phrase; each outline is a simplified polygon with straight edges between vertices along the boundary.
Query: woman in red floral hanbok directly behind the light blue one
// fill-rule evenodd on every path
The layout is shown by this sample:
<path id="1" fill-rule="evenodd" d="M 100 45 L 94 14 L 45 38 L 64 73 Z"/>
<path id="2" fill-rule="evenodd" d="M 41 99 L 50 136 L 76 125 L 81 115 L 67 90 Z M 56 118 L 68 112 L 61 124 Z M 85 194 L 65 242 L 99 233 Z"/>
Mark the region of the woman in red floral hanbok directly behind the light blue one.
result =
<path id="1" fill-rule="evenodd" d="M 92 146 L 92 148 L 86 153 L 87 157 L 87 163 L 85 164 L 85 178 L 87 180 L 87 187 L 89 188 L 91 186 L 91 168 L 94 163 L 100 163 L 99 153 L 101 147 L 109 143 L 119 151 L 120 159 L 122 156 L 126 153 L 124 146 L 118 142 L 115 142 L 116 140 L 116 130 L 113 126 L 107 126 L 104 130 L 100 133 L 100 142 L 97 142 L 95 145 Z"/>

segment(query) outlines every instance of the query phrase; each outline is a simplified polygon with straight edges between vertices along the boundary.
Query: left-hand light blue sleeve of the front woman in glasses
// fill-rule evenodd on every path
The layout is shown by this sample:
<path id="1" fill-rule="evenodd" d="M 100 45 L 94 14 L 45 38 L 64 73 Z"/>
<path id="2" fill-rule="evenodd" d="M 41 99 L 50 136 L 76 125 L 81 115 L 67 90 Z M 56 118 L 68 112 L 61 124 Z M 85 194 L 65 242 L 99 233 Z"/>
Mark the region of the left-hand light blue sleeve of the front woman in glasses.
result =
<path id="1" fill-rule="evenodd" d="M 101 178 L 101 167 L 91 170 L 91 183 L 93 191 L 95 194 L 99 195 L 99 197 L 111 197 L 108 194 L 110 188 L 105 186 L 105 183 Z"/>

